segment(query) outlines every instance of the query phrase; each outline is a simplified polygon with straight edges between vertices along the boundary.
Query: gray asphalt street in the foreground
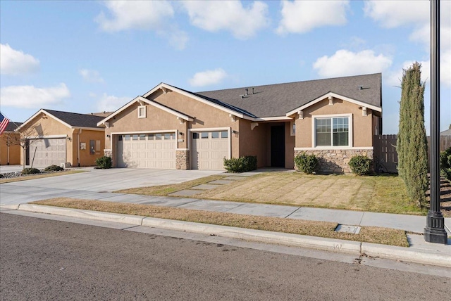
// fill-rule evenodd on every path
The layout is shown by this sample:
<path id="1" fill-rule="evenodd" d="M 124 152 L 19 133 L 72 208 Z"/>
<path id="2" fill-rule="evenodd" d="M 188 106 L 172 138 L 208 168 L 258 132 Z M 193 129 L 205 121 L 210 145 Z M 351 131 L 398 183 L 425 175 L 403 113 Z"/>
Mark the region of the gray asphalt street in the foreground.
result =
<path id="1" fill-rule="evenodd" d="M 0 214 L 1 300 L 447 300 L 451 278 Z"/>

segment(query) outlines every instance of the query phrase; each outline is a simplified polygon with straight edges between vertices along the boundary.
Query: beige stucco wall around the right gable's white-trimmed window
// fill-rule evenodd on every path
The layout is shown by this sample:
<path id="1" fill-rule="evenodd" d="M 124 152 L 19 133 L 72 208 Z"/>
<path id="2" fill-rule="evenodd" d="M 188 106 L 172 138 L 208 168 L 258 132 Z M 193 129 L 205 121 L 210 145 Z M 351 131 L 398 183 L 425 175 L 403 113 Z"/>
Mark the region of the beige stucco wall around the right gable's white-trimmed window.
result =
<path id="1" fill-rule="evenodd" d="M 373 146 L 373 117 L 368 109 L 367 116 L 362 115 L 359 105 L 336 99 L 333 105 L 328 104 L 328 99 L 311 105 L 304 110 L 304 119 L 296 120 L 296 148 L 312 148 L 312 119 L 318 115 L 347 115 L 352 114 L 352 146 Z"/>

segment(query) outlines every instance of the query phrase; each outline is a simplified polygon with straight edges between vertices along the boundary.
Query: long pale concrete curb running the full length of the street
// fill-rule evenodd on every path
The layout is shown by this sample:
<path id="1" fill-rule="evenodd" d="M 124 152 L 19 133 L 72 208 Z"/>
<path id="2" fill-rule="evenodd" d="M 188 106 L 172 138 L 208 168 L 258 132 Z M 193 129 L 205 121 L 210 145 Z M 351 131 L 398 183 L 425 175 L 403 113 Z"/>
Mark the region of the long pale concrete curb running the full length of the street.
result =
<path id="1" fill-rule="evenodd" d="M 194 222 L 175 221 L 171 219 L 158 219 L 154 217 L 142 217 L 128 214 L 70 209 L 45 205 L 0 205 L 0 209 L 57 214 L 66 217 L 94 219 L 104 222 L 118 222 L 134 226 L 147 226 L 176 231 L 188 231 L 228 238 L 238 238 L 245 241 L 291 245 L 316 250 L 345 252 L 356 256 L 365 255 L 390 260 L 403 260 L 420 264 L 438 265 L 440 267 L 451 267 L 450 255 L 439 251 L 421 250 L 419 248 L 402 248 L 392 245 L 378 245 L 375 243 L 361 243 L 358 241 L 344 241 L 332 238 L 301 236 L 290 233 L 261 231 L 212 224 L 199 224 Z"/>

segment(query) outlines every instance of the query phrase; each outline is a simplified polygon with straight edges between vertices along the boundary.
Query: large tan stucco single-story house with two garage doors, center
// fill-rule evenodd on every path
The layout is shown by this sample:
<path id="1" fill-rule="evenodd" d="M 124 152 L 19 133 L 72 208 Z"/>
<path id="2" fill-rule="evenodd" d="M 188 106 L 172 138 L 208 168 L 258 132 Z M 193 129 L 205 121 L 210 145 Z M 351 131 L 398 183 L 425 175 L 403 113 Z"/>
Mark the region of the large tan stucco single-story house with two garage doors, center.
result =
<path id="1" fill-rule="evenodd" d="M 193 93 L 161 83 L 97 125 L 116 167 L 223 169 L 257 156 L 258 167 L 294 167 L 315 153 L 321 172 L 350 172 L 381 134 L 381 74 Z"/>

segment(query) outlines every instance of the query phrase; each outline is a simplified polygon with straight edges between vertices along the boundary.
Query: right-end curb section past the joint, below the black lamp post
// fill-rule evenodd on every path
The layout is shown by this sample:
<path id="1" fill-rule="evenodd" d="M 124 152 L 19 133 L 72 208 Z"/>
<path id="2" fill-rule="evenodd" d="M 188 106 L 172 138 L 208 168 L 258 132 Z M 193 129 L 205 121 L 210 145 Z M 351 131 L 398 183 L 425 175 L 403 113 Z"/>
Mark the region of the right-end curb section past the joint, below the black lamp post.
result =
<path id="1" fill-rule="evenodd" d="M 451 267 L 450 255 L 438 251 L 432 253 L 431 250 L 402 248 L 394 245 L 362 243 L 362 255 L 369 257 L 383 257 L 390 260 L 404 260 L 421 264 L 432 264 L 440 267 Z"/>

